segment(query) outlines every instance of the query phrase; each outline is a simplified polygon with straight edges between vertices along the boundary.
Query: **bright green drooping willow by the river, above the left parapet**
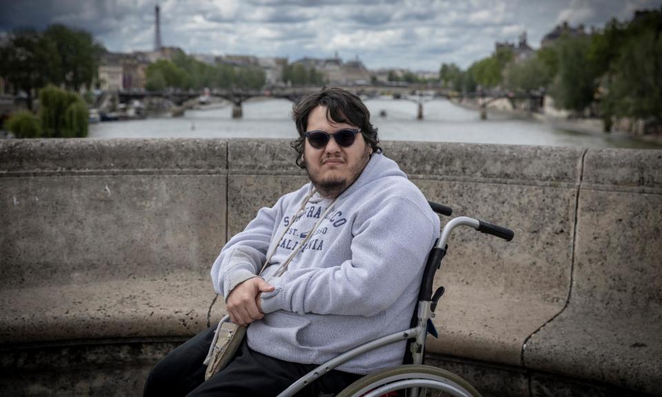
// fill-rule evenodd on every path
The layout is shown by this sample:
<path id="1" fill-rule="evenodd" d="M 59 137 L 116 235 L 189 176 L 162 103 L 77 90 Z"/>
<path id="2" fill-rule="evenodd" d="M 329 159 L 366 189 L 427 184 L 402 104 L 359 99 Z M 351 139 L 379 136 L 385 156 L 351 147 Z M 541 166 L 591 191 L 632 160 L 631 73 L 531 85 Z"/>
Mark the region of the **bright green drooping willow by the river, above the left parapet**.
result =
<path id="1" fill-rule="evenodd" d="M 39 91 L 39 105 L 44 137 L 88 136 L 88 107 L 78 94 L 48 85 Z"/>

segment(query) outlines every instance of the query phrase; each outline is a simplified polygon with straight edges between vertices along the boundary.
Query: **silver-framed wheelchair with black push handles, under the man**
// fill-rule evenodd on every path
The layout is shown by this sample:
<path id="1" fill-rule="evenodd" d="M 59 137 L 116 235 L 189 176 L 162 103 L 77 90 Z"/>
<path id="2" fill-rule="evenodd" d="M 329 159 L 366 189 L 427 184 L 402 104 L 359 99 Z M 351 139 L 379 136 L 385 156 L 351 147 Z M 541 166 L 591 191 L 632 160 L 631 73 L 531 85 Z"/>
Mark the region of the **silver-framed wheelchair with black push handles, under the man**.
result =
<path id="1" fill-rule="evenodd" d="M 445 216 L 450 216 L 452 210 L 449 207 L 437 203 L 430 203 L 434 212 Z M 337 394 L 337 397 L 391 397 L 391 396 L 454 396 L 454 397 L 480 397 L 481 394 L 463 378 L 438 367 L 423 365 L 423 355 L 425 354 L 425 336 L 428 333 L 436 336 L 431 317 L 434 316 L 434 309 L 437 308 L 439 298 L 443 295 L 443 287 L 437 288 L 432 294 L 432 283 L 434 282 L 434 273 L 441 267 L 441 261 L 448 250 L 448 238 L 451 232 L 459 226 L 469 226 L 474 230 L 486 234 L 492 234 L 506 241 L 512 240 L 514 233 L 508 228 L 493 225 L 479 219 L 459 216 L 452 218 L 441 230 L 441 236 L 437 244 L 432 248 L 428 256 L 428 262 L 425 265 L 423 279 L 417 307 L 412 316 L 410 329 L 404 329 L 401 332 L 377 338 L 368 343 L 355 347 L 349 352 L 345 352 L 336 358 L 328 360 L 319 365 L 308 374 L 299 378 L 297 382 L 292 383 L 278 397 L 291 397 L 314 380 L 323 376 L 325 373 L 345 363 L 346 361 L 359 356 L 372 349 L 397 343 L 402 340 L 408 340 L 408 349 L 405 350 L 405 363 L 398 367 L 383 369 L 382 371 L 368 374 L 360 378 L 352 385 Z"/>

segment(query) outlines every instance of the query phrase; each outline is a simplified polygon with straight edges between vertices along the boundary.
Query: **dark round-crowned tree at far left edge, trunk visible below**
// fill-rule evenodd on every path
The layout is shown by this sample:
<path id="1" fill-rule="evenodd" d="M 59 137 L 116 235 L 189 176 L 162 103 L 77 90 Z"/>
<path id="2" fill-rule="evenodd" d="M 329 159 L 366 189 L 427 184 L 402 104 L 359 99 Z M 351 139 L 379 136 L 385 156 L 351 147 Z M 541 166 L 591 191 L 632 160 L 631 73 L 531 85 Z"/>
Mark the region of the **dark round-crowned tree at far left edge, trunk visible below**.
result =
<path id="1" fill-rule="evenodd" d="M 57 81 L 61 70 L 57 46 L 34 30 L 10 33 L 0 46 L 0 59 L 0 76 L 12 84 L 14 94 L 17 90 L 28 94 L 30 110 L 32 91 Z"/>

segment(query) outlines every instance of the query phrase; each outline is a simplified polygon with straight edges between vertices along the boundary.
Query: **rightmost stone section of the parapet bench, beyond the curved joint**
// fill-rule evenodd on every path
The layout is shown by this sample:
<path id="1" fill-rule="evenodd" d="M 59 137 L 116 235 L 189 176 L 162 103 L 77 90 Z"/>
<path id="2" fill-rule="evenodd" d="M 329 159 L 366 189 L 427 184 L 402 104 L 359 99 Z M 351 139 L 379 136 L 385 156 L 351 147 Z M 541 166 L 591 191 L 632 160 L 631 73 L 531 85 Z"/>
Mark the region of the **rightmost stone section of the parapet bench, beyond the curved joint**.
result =
<path id="1" fill-rule="evenodd" d="M 662 156 L 590 151 L 570 303 L 534 334 L 525 365 L 656 394 L 662 383 Z M 639 164 L 645 162 L 646 164 Z"/>

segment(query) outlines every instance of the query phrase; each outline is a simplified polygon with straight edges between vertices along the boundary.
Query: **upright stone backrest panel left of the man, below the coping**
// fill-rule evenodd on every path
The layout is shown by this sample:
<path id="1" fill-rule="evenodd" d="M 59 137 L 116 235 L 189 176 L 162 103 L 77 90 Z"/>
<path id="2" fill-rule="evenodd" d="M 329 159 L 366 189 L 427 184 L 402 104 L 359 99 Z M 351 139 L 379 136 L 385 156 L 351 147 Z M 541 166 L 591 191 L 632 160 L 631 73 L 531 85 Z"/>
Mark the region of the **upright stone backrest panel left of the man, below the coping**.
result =
<path id="1" fill-rule="evenodd" d="M 225 175 L 0 178 L 0 286 L 95 283 L 188 270 L 225 239 Z"/>

